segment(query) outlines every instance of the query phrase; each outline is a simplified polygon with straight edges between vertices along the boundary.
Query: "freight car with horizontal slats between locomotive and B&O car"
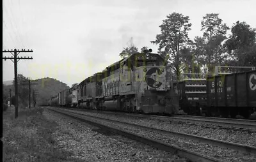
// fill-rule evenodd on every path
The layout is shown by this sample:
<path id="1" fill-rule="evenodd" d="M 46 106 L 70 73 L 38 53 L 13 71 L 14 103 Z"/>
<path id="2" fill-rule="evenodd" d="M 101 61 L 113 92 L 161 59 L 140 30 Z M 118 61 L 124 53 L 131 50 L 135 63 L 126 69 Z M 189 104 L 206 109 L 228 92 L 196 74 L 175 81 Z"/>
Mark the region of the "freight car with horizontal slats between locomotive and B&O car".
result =
<path id="1" fill-rule="evenodd" d="M 239 66 L 215 66 L 213 74 L 184 73 L 180 77 L 180 82 L 175 82 L 175 87 L 179 86 L 180 108 L 189 115 L 211 115 L 211 116 L 227 116 L 227 108 L 212 108 L 207 100 L 207 77 L 225 76 L 237 71 L 251 71 L 255 67 L 239 67 Z M 179 83 L 179 84 L 177 84 Z M 252 108 L 250 109 L 252 110 Z M 223 114 L 223 111 L 226 112 Z M 241 114 L 241 113 L 240 113 Z M 230 114 L 230 111 L 228 112 Z M 234 117 L 234 114 L 232 115 Z"/>

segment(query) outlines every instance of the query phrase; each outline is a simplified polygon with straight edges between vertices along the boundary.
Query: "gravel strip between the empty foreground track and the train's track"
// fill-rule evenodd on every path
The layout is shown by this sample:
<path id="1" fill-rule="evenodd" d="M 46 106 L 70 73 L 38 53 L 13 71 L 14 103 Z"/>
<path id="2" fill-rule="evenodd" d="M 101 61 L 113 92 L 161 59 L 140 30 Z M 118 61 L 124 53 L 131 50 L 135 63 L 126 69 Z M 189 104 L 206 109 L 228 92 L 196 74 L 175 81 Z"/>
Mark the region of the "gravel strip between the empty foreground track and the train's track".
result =
<path id="1" fill-rule="evenodd" d="M 79 113 L 256 147 L 256 128 L 232 128 L 230 126 L 218 126 L 214 124 L 181 122 L 175 121 L 175 119 L 148 119 L 145 117 L 134 117 L 126 114 L 103 114 L 100 112 L 88 112 L 81 110 L 79 110 Z"/>

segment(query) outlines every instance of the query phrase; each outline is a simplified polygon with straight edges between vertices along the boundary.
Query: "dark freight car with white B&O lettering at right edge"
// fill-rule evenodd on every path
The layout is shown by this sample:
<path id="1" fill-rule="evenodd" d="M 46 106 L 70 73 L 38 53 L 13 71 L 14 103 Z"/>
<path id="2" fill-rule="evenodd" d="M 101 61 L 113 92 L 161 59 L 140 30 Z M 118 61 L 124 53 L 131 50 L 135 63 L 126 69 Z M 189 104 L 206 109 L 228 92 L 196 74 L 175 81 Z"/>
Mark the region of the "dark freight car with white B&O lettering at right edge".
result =
<path id="1" fill-rule="evenodd" d="M 207 114 L 248 118 L 256 108 L 256 70 L 207 78 Z"/>

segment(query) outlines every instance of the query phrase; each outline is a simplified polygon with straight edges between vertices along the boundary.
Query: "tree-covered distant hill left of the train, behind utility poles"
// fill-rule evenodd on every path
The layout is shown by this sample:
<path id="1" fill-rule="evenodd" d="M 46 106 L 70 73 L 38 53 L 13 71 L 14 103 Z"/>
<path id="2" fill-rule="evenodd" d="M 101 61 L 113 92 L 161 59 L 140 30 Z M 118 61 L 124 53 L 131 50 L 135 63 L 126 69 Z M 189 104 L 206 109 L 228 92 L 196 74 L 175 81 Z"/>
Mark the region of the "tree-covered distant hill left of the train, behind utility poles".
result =
<path id="1" fill-rule="evenodd" d="M 54 78 L 40 78 L 36 80 L 37 85 L 31 85 L 31 104 L 33 105 L 33 98 L 32 93 L 33 89 L 38 91 L 37 97 L 36 97 L 36 104 L 47 104 L 47 100 L 50 99 L 52 96 L 56 96 L 58 92 L 63 91 L 64 89 L 69 89 L 70 87 L 67 86 L 67 84 L 60 82 L 59 80 L 56 80 Z M 7 82 L 7 81 L 6 81 Z M 8 81 L 12 82 L 12 81 Z M 24 85 L 23 85 L 24 86 Z M 21 87 L 19 87 L 20 89 Z M 11 90 L 11 96 L 14 96 L 14 86 L 11 85 L 5 85 L 3 82 L 3 94 L 5 99 L 10 98 L 10 89 Z M 26 85 L 26 91 L 28 91 L 28 85 Z M 19 90 L 20 91 L 20 90 Z"/>

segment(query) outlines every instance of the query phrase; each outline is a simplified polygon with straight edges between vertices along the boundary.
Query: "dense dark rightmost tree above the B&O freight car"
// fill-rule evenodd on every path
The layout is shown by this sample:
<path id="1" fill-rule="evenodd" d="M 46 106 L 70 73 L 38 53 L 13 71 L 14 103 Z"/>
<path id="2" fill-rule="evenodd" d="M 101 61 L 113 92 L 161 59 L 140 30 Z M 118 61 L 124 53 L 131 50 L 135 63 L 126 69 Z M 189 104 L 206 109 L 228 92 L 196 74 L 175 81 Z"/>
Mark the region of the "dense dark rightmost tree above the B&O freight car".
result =
<path id="1" fill-rule="evenodd" d="M 246 22 L 233 24 L 228 40 L 225 43 L 228 54 L 234 57 L 239 66 L 256 66 L 256 29 Z"/>

